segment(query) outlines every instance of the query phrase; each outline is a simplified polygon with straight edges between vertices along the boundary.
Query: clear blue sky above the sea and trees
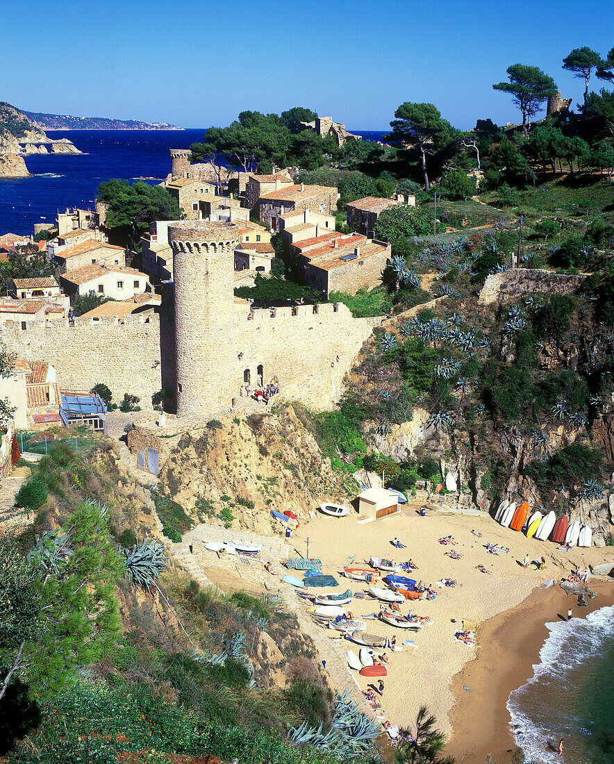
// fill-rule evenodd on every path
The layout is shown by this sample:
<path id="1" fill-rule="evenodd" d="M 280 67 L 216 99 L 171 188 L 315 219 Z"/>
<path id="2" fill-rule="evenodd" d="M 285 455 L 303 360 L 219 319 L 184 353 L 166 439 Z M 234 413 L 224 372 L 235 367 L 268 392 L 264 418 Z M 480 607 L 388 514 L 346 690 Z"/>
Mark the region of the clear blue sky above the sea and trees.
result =
<path id="1" fill-rule="evenodd" d="M 313 108 L 386 129 L 405 101 L 458 128 L 518 121 L 493 83 L 539 66 L 564 97 L 574 47 L 614 45 L 612 0 L 0 0 L 0 100 L 27 111 L 227 125 Z M 599 81 L 596 86 L 603 86 Z"/>

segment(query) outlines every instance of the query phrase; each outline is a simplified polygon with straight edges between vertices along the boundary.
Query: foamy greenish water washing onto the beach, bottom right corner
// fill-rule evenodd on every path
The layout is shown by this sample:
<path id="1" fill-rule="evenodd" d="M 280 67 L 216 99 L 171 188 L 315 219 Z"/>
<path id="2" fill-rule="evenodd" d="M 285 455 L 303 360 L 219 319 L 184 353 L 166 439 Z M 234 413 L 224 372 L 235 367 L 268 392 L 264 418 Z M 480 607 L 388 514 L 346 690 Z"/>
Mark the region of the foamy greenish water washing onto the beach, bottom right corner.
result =
<path id="1" fill-rule="evenodd" d="M 509 696 L 516 743 L 526 762 L 612 764 L 614 606 L 547 626 L 533 677 Z"/>

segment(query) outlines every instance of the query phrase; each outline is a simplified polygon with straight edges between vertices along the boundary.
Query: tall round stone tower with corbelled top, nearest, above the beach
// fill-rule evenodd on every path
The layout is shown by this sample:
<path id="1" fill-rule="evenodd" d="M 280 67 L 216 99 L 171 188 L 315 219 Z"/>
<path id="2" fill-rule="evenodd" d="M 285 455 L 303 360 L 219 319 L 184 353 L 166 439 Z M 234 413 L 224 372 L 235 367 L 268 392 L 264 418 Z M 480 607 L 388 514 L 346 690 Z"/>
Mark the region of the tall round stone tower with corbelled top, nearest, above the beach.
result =
<path id="1" fill-rule="evenodd" d="M 169 225 L 175 285 L 177 416 L 228 409 L 234 389 L 234 223 Z"/>

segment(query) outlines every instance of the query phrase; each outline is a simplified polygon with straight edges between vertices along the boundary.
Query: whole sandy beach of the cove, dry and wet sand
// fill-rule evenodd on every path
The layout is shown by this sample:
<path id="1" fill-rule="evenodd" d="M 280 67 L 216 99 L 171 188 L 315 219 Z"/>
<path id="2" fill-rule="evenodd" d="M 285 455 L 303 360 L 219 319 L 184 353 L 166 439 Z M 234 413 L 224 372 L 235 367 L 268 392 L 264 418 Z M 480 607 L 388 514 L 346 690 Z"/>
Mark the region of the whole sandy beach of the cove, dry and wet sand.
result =
<path id="1" fill-rule="evenodd" d="M 408 601 L 402 605 L 402 613 L 411 608 L 433 621 L 431 626 L 417 632 L 383 623 L 376 617 L 380 602 L 368 594 L 364 599 L 355 598 L 346 608 L 355 618 L 367 620 L 367 632 L 396 636 L 397 651 L 385 651 L 389 665 L 380 703 L 386 711 L 386 720 L 411 728 L 418 707 L 425 704 L 450 739 L 448 749 L 457 760 L 467 754 L 467 759 L 482 762 L 486 753 L 499 755 L 502 760 L 502 753 L 513 745 L 506 701 L 509 692 L 532 675 L 532 664 L 538 662 L 541 644 L 548 636 L 545 622 L 555 620 L 559 612 L 567 613 L 570 604 L 578 616 L 583 616 L 591 609 L 614 602 L 614 579 L 612 584 L 607 581 L 600 584 L 599 597 L 590 601 L 590 607 L 581 609 L 575 607 L 575 597 L 567 598 L 558 581 L 567 578 L 577 566 L 586 568 L 588 564 L 614 561 L 614 548 L 559 552 L 554 543 L 526 539 L 521 533 L 499 526 L 487 515 L 428 510 L 422 517 L 418 507 L 405 507 L 402 513 L 376 522 L 361 524 L 358 520 L 355 513 L 343 518 L 318 513 L 312 519 L 302 520 L 292 534 L 289 556 L 305 556 L 309 538 L 309 557 L 321 559 L 322 572 L 337 578 L 337 589 L 309 590 L 315 594 L 347 588 L 354 593 L 367 592 L 364 582 L 344 578 L 341 572 L 344 566 L 365 567 L 371 555 L 393 558 L 396 562 L 412 558 L 418 569 L 410 577 L 434 584 L 435 600 Z M 439 543 L 438 539 L 450 535 L 455 545 Z M 406 549 L 396 549 L 390 543 L 395 537 L 406 544 Z M 508 547 L 509 552 L 490 554 L 487 542 Z M 452 550 L 462 558 L 448 556 Z M 538 571 L 535 565 L 523 568 L 522 559 L 527 553 L 532 560 L 543 555 L 545 570 Z M 477 570 L 477 565 L 483 565 L 490 575 Z M 296 597 L 292 587 L 279 584 L 285 572 L 276 565 L 276 576 L 266 578 L 265 574 L 264 580 L 275 587 L 280 585 L 284 597 Z M 207 574 L 212 580 L 217 578 L 213 567 L 208 568 Z M 436 582 L 446 577 L 456 579 L 457 586 L 438 588 Z M 547 578 L 554 579 L 554 587 L 543 589 Z M 228 581 L 225 583 L 228 587 Z M 309 604 L 302 607 L 307 613 Z M 454 633 L 464 620 L 479 624 L 477 646 L 455 641 Z M 354 652 L 359 649 L 341 639 L 341 633 L 333 630 L 322 633 L 330 638 L 334 651 L 343 659 L 348 649 Z M 412 644 L 404 646 L 406 639 Z M 502 654 L 506 656 L 504 661 Z M 373 678 L 352 674 L 363 691 L 376 684 Z M 349 675 L 347 679 L 352 681 Z M 470 691 L 464 691 L 463 685 Z"/>

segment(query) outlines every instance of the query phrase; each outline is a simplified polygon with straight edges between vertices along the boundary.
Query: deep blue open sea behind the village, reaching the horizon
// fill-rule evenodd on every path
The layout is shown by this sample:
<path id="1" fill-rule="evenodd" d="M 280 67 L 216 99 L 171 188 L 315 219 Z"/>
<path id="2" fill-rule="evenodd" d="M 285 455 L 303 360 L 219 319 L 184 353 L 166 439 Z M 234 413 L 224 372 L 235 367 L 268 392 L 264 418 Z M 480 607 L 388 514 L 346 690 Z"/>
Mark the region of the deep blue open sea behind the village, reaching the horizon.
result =
<path id="1" fill-rule="evenodd" d="M 0 235 L 30 235 L 34 223 L 53 223 L 66 208 L 93 209 L 103 180 L 160 183 L 170 173 L 170 148 L 202 141 L 206 128 L 192 130 L 47 130 L 68 138 L 83 154 L 25 157 L 31 177 L 0 179 Z M 351 131 L 379 141 L 383 131 Z"/>

